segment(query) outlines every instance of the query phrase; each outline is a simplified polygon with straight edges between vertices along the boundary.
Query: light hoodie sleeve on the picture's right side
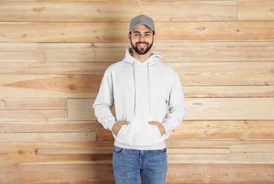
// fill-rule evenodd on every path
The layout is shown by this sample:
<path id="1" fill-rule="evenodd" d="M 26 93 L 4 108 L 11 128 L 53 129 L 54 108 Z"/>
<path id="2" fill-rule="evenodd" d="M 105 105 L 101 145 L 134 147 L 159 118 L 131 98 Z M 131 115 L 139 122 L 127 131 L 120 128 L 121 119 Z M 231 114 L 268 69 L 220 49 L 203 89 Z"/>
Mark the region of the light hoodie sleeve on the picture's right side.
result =
<path id="1" fill-rule="evenodd" d="M 187 111 L 188 107 L 185 104 L 181 81 L 174 71 L 169 93 L 169 115 L 163 122 L 166 133 L 181 125 Z"/>

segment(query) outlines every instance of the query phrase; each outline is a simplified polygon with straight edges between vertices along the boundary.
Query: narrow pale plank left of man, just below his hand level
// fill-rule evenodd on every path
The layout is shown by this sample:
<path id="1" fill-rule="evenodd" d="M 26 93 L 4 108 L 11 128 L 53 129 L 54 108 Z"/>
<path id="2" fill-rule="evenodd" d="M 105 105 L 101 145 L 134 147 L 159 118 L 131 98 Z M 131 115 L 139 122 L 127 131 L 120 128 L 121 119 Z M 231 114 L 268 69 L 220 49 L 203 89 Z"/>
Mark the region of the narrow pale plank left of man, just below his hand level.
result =
<path id="1" fill-rule="evenodd" d="M 0 142 L 91 142 L 96 132 L 1 133 Z"/>

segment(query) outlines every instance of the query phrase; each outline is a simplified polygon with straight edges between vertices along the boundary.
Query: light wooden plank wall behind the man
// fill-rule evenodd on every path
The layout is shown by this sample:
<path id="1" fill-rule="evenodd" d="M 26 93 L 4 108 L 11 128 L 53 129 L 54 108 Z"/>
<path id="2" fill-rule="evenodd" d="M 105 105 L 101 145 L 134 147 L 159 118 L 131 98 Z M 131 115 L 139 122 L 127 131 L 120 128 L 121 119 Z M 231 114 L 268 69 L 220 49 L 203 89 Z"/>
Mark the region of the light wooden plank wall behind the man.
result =
<path id="1" fill-rule="evenodd" d="M 91 105 L 139 13 L 190 108 L 166 183 L 274 183 L 273 0 L 0 0 L 0 183 L 114 183 Z"/>

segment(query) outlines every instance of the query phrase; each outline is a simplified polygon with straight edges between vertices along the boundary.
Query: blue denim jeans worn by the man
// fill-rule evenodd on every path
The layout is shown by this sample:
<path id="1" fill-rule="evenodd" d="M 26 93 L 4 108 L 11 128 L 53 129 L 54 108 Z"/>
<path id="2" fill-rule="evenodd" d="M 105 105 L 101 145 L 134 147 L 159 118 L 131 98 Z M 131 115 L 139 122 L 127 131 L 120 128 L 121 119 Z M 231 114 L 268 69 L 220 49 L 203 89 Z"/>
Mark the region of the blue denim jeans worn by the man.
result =
<path id="1" fill-rule="evenodd" d="M 113 171 L 116 184 L 164 184 L 166 182 L 166 149 L 136 150 L 114 146 Z"/>

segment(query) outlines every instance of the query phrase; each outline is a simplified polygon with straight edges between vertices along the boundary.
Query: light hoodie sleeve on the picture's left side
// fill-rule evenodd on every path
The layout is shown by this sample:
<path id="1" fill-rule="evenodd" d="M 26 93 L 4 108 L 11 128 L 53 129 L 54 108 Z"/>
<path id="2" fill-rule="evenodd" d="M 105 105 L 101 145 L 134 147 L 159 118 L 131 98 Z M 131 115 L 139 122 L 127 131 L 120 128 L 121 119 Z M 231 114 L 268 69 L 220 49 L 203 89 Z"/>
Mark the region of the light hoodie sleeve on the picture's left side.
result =
<path id="1" fill-rule="evenodd" d="M 107 130 L 112 130 L 116 120 L 111 113 L 113 108 L 113 82 L 110 70 L 106 70 L 103 76 L 101 86 L 93 103 L 95 115 L 103 127 Z"/>

